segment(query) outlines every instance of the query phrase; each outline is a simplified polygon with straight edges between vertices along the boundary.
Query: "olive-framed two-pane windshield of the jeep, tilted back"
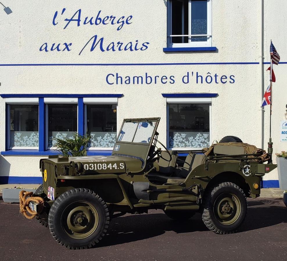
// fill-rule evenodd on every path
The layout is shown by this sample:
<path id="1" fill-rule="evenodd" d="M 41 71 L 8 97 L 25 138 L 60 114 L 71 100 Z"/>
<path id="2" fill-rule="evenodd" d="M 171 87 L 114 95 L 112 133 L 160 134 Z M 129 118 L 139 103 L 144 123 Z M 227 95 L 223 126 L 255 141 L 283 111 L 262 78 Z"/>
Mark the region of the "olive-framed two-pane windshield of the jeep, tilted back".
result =
<path id="1" fill-rule="evenodd" d="M 155 147 L 159 120 L 159 117 L 124 119 L 112 155 L 141 160 L 140 171 L 142 171 L 146 166 L 150 148 Z"/>

